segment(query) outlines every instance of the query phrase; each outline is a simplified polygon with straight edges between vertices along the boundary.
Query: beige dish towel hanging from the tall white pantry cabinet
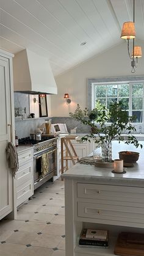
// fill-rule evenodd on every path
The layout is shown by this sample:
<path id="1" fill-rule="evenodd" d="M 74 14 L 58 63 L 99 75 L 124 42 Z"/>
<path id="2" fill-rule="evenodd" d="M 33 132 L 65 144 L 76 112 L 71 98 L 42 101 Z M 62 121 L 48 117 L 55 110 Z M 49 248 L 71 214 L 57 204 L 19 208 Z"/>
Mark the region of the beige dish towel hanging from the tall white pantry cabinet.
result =
<path id="1" fill-rule="evenodd" d="M 15 146 L 12 142 L 8 142 L 6 147 L 6 155 L 7 155 L 7 162 L 9 168 L 12 170 L 12 175 L 15 177 L 15 174 L 18 170 L 18 153 L 16 152 Z"/>

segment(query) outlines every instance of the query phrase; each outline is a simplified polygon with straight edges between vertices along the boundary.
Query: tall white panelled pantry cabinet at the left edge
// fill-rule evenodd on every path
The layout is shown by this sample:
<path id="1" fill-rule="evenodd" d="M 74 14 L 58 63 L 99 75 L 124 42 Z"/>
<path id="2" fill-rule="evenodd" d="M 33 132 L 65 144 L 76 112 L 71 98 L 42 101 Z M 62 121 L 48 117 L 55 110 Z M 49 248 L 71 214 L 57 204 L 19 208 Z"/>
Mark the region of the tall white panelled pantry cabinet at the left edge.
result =
<path id="1" fill-rule="evenodd" d="M 13 177 L 5 153 L 15 138 L 12 57 L 0 49 L 0 219 L 13 211 Z"/>

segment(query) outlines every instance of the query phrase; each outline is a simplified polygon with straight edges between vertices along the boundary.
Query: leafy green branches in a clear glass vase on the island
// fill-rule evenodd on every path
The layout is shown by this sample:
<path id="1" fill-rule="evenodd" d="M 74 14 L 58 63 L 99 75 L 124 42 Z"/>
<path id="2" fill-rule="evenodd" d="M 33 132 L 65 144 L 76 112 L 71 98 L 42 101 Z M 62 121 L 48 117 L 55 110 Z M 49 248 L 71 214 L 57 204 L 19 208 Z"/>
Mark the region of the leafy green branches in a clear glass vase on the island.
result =
<path id="1" fill-rule="evenodd" d="M 104 162 L 112 162 L 112 140 L 117 138 L 118 141 L 124 141 L 124 136 L 121 136 L 123 130 L 128 131 L 126 144 L 134 144 L 136 148 L 140 145 L 142 148 L 137 138 L 131 134 L 131 132 L 136 131 L 132 126 L 135 117 L 131 117 L 126 111 L 123 111 L 121 102 L 110 104 L 109 109 L 104 104 L 100 104 L 96 113 L 96 123 L 98 125 L 89 119 L 91 112 L 87 108 L 82 111 L 79 104 L 77 104 L 76 110 L 74 113 L 70 113 L 70 116 L 95 129 L 97 136 L 91 132 L 82 137 L 81 140 L 90 141 L 90 138 L 93 138 L 95 143 L 101 146 Z"/>

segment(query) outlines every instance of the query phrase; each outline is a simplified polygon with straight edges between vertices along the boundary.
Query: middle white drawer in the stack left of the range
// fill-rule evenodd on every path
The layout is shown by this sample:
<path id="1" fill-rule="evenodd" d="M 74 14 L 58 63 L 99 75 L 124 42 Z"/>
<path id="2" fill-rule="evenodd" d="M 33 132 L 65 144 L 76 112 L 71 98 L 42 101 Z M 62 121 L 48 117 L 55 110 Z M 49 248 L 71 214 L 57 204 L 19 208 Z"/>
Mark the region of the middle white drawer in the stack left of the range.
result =
<path id="1" fill-rule="evenodd" d="M 18 172 L 16 172 L 16 187 L 29 180 L 33 181 L 32 161 L 20 166 Z"/>

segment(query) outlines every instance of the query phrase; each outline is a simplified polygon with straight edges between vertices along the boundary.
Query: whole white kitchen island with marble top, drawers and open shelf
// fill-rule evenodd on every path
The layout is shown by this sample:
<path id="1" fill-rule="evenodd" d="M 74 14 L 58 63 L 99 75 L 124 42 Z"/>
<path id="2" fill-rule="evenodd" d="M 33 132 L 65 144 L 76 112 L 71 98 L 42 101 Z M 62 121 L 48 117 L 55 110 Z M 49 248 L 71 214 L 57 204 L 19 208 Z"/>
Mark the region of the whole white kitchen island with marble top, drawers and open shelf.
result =
<path id="1" fill-rule="evenodd" d="M 142 142 L 143 144 L 144 142 Z M 144 233 L 144 148 L 113 141 L 113 159 L 121 150 L 140 152 L 126 174 L 76 164 L 65 179 L 66 256 L 112 256 L 120 232 Z M 109 249 L 79 247 L 83 228 L 109 230 Z"/>

